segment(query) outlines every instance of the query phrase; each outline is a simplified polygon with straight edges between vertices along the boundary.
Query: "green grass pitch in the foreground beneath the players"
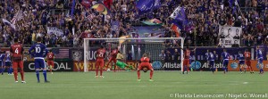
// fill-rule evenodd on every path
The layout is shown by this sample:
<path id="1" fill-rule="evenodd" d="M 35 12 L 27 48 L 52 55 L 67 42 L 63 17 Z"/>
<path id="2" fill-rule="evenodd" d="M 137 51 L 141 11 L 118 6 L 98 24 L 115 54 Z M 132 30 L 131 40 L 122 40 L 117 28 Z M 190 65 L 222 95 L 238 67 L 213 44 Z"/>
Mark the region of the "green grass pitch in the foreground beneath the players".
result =
<path id="1" fill-rule="evenodd" d="M 182 75 L 179 71 L 155 71 L 153 82 L 148 81 L 149 72 L 141 72 L 140 82 L 136 71 L 104 72 L 105 78 L 94 78 L 95 72 L 54 72 L 47 74 L 51 83 L 44 83 L 42 73 L 41 83 L 34 72 L 25 74 L 26 84 L 14 83 L 13 76 L 6 73 L 0 75 L 0 99 L 199 99 L 193 95 L 205 94 L 224 97 L 202 99 L 235 99 L 235 95 L 254 99 L 249 94 L 268 94 L 268 76 L 257 72 L 230 71 L 224 75 L 218 71 L 213 75 L 194 71 Z"/>

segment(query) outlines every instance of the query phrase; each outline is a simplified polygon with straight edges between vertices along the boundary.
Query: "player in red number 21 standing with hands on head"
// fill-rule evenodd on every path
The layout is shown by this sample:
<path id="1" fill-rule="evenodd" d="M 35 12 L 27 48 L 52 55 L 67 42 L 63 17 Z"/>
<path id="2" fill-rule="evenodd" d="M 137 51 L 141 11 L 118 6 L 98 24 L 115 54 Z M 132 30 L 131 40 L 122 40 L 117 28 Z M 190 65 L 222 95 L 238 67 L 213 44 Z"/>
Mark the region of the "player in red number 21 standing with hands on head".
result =
<path id="1" fill-rule="evenodd" d="M 96 77 L 98 77 L 98 69 L 100 68 L 100 77 L 103 77 L 103 68 L 105 66 L 105 54 L 106 50 L 103 45 L 96 51 Z"/>

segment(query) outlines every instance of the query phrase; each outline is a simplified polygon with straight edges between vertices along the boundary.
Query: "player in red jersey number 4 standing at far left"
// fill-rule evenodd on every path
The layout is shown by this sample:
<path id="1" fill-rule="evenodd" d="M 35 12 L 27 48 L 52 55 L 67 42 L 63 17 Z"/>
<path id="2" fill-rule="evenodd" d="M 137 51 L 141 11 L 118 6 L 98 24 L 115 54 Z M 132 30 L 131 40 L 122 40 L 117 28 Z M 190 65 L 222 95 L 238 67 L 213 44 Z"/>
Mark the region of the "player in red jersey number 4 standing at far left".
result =
<path id="1" fill-rule="evenodd" d="M 14 38 L 14 44 L 10 47 L 10 52 L 12 54 L 13 61 L 13 72 L 15 82 L 18 82 L 18 67 L 21 69 L 21 83 L 26 83 L 24 81 L 24 71 L 23 71 L 23 45 L 18 43 L 18 38 Z"/>

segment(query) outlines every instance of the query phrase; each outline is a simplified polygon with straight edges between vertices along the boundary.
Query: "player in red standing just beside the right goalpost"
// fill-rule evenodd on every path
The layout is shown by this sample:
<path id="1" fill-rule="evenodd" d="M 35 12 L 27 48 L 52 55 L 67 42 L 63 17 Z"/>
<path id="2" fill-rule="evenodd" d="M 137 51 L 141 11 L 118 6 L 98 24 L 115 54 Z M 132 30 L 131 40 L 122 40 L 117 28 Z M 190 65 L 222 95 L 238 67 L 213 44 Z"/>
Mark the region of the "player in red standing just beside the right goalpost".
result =
<path id="1" fill-rule="evenodd" d="M 196 51 L 196 48 L 194 50 L 189 50 L 188 46 L 186 47 L 186 50 L 184 51 L 183 54 L 183 70 L 182 70 L 182 74 L 184 74 L 184 72 L 186 72 L 188 74 L 188 68 L 189 68 L 189 58 L 190 58 L 190 53 L 191 51 Z"/>

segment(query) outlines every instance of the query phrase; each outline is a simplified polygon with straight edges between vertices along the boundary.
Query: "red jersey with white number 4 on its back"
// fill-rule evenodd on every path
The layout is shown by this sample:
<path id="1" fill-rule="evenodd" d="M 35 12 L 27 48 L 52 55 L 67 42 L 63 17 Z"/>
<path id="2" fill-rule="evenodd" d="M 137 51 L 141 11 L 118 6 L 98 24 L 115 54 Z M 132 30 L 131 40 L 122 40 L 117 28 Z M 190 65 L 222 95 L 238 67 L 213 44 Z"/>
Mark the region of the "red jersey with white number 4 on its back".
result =
<path id="1" fill-rule="evenodd" d="M 22 61 L 23 46 L 21 44 L 13 44 L 10 47 L 10 52 L 13 55 L 13 61 Z"/>

